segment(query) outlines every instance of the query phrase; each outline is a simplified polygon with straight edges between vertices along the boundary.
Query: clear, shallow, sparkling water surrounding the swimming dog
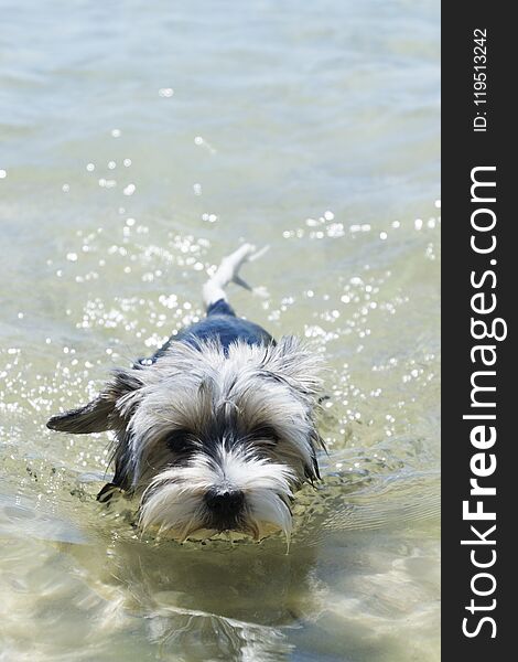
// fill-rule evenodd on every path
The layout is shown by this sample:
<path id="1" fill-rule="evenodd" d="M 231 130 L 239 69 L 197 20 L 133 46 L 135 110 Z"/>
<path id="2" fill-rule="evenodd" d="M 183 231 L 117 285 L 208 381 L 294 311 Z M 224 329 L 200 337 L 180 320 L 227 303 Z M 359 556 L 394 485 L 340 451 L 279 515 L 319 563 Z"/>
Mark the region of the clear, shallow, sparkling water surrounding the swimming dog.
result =
<path id="1" fill-rule="evenodd" d="M 439 659 L 439 7 L 1 2 L 1 660 Z M 51 434 L 231 291 L 330 366 L 279 537 L 157 544 Z"/>

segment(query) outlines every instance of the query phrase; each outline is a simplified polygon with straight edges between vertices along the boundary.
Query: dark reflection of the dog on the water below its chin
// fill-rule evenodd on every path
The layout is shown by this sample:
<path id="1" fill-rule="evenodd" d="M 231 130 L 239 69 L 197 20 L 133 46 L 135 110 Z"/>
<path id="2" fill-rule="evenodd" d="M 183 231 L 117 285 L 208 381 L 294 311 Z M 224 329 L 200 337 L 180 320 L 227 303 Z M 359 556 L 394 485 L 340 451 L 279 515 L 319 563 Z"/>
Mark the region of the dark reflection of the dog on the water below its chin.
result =
<path id="1" fill-rule="evenodd" d="M 119 604 L 145 623 L 160 659 L 283 660 L 293 644 L 285 629 L 319 611 L 317 548 L 280 540 L 179 545 L 115 540 L 100 557 L 88 546 L 68 548 L 95 589 L 122 594 Z M 91 567 L 93 564 L 97 568 Z"/>

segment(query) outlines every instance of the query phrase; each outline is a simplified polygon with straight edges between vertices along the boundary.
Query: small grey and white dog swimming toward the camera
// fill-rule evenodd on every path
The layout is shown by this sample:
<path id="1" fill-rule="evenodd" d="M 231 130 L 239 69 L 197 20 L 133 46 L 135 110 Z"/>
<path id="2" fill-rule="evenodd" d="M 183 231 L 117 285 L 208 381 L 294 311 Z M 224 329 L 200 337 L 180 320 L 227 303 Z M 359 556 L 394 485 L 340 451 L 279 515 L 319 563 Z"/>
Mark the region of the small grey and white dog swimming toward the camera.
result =
<path id="1" fill-rule="evenodd" d="M 320 356 L 294 337 L 276 342 L 227 302 L 229 282 L 251 289 L 239 268 L 258 255 L 245 244 L 224 258 L 203 287 L 204 319 L 47 421 L 115 434 L 115 477 L 97 498 L 120 490 L 138 499 L 142 531 L 183 542 L 220 532 L 258 541 L 281 530 L 289 542 L 293 493 L 320 478 Z"/>

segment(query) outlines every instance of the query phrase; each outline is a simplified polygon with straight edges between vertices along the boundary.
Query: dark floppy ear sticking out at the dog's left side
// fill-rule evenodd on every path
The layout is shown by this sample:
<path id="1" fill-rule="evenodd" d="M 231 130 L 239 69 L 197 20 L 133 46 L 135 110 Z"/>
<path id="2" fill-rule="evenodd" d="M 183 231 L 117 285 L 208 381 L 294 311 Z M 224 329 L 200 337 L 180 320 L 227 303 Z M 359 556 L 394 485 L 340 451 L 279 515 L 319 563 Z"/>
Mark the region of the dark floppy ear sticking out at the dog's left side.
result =
<path id="1" fill-rule="evenodd" d="M 52 416 L 46 427 L 74 435 L 104 433 L 120 427 L 121 415 L 116 408 L 117 401 L 142 386 L 142 382 L 134 374 L 138 372 L 138 370 L 115 371 L 111 382 L 98 396 L 83 407 Z"/>

